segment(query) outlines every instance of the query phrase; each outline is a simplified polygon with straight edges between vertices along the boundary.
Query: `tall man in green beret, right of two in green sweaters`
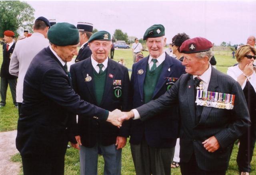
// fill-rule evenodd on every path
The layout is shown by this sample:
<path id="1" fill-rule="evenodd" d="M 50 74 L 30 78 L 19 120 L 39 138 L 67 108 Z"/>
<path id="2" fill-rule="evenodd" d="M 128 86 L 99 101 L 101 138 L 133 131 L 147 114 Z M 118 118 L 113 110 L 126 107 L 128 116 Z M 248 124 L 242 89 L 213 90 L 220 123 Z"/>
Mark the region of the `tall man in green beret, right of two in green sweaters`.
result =
<path id="1" fill-rule="evenodd" d="M 164 26 L 151 26 L 143 39 L 149 55 L 132 67 L 133 108 L 164 94 L 185 73 L 182 63 L 164 52 Z M 170 175 L 178 136 L 177 111 L 177 105 L 173 105 L 148 121 L 132 120 L 130 146 L 137 175 Z"/>

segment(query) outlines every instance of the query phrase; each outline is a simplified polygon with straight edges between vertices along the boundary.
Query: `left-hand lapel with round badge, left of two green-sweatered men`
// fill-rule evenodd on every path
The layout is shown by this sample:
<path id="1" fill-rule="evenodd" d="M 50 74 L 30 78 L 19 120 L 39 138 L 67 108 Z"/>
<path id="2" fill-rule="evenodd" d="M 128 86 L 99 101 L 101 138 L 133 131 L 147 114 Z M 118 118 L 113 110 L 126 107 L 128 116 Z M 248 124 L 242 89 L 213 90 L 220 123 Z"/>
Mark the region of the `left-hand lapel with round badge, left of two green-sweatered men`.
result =
<path id="1" fill-rule="evenodd" d="M 91 59 L 86 59 L 86 61 L 83 62 L 84 66 L 82 69 L 82 76 L 84 78 L 84 81 L 86 77 L 92 77 L 91 81 L 85 81 L 85 84 L 87 86 L 88 91 L 90 92 L 92 98 L 94 99 L 94 102 L 96 102 L 95 94 L 94 94 L 94 80 L 93 80 L 93 67 Z"/>

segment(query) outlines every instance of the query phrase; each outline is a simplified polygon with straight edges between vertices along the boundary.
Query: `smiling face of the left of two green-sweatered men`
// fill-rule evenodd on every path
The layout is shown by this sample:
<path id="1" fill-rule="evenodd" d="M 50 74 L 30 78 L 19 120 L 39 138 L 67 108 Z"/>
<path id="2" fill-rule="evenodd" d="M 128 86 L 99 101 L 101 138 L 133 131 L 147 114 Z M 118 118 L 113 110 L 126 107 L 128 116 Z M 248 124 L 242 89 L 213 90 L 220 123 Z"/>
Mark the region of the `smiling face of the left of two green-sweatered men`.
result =
<path id="1" fill-rule="evenodd" d="M 94 40 L 88 43 L 91 51 L 92 57 L 98 63 L 102 63 L 108 58 L 108 53 L 112 47 L 111 41 L 101 41 L 101 40 Z"/>

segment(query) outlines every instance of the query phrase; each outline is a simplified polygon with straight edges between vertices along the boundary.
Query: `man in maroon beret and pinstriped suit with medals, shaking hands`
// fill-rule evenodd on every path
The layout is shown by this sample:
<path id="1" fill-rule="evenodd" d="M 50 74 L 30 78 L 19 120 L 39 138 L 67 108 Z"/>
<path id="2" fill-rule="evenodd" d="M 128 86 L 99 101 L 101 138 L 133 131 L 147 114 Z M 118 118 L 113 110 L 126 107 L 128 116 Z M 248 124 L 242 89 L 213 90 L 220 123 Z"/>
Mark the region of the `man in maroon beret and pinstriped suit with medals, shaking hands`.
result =
<path id="1" fill-rule="evenodd" d="M 232 77 L 212 68 L 211 47 L 202 37 L 184 41 L 180 51 L 187 73 L 158 99 L 120 118 L 145 122 L 178 103 L 182 175 L 225 175 L 234 141 L 250 125 L 242 88 Z"/>

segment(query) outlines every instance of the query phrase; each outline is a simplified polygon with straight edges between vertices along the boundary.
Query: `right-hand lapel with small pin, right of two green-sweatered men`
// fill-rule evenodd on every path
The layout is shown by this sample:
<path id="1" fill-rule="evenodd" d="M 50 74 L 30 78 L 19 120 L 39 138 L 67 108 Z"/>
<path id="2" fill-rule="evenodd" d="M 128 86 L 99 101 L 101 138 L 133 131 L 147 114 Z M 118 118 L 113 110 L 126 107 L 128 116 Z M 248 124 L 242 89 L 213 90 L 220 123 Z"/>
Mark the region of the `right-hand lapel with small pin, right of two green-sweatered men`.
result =
<path id="1" fill-rule="evenodd" d="M 167 55 L 167 54 L 166 54 Z M 158 82 L 156 84 L 155 90 L 154 90 L 154 94 L 152 96 L 152 99 L 156 96 L 157 92 L 164 86 L 164 84 L 166 83 L 166 77 L 170 77 L 170 75 L 172 74 L 172 60 L 171 59 L 166 59 L 163 64 L 163 68 L 162 68 L 162 72 L 159 76 Z"/>

